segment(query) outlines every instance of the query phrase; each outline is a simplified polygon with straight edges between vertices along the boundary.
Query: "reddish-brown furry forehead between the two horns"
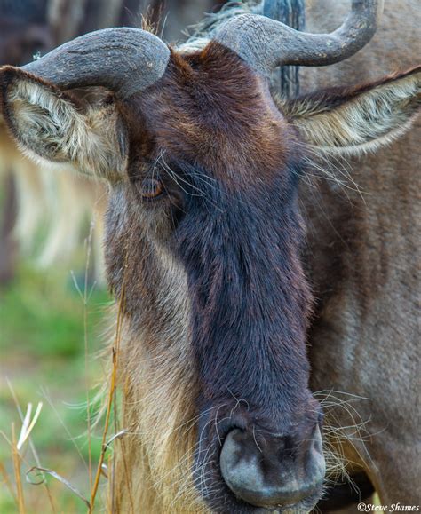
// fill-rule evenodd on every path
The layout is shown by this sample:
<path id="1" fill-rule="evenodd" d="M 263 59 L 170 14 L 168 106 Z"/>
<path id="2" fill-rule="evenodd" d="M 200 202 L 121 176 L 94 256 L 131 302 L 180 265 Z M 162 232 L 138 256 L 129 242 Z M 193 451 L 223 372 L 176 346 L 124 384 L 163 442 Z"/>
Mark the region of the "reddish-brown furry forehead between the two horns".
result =
<path id="1" fill-rule="evenodd" d="M 215 42 L 190 55 L 172 51 L 163 79 L 133 101 L 142 159 L 165 151 L 226 181 L 279 172 L 295 138 L 265 79 Z"/>

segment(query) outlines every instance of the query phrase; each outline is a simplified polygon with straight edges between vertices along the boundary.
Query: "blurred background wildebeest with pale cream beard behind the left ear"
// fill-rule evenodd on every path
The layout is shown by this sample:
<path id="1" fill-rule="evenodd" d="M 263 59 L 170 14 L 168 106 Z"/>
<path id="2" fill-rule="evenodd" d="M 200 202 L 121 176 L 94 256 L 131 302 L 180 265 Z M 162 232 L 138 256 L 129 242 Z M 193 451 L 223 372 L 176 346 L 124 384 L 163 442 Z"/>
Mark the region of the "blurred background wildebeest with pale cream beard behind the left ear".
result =
<path id="1" fill-rule="evenodd" d="M 0 65 L 25 64 L 36 54 L 98 28 L 139 26 L 142 17 L 167 40 L 179 39 L 181 28 L 199 20 L 212 4 L 211 0 L 0 0 Z M 91 217 L 92 208 L 92 272 L 103 282 L 101 241 L 107 189 L 66 172 L 45 172 L 20 154 L 1 118 L 0 178 L 7 191 L 0 232 L 0 283 L 12 279 L 17 245 L 21 254 L 30 255 L 41 268 L 68 266 L 89 233 L 86 218 Z M 42 245 L 40 226 L 44 227 Z"/>

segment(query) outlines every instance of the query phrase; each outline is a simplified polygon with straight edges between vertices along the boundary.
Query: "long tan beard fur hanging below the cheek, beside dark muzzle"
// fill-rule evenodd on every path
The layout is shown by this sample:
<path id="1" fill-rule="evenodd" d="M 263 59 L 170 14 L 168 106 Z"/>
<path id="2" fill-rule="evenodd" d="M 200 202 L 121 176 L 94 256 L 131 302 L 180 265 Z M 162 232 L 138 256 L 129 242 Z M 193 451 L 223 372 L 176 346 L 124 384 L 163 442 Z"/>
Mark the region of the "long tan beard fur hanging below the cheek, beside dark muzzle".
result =
<path id="1" fill-rule="evenodd" d="M 143 241 L 146 253 L 153 251 L 148 249 L 153 244 Z M 183 329 L 188 325 L 190 305 L 188 298 L 179 294 L 186 290 L 187 278 L 163 249 L 155 255 L 162 259 L 158 266 L 164 288 L 170 293 L 158 301 L 164 311 L 177 312 L 179 329 L 169 327 L 156 340 L 153 326 L 145 326 L 139 335 L 128 328 L 130 320 L 123 322 L 118 369 L 123 393 L 121 423 L 128 435 L 120 441 L 115 510 L 200 512 L 201 502 L 187 472 L 193 465 L 197 435 L 191 403 L 195 375 L 186 366 L 191 356 L 188 333 Z"/>

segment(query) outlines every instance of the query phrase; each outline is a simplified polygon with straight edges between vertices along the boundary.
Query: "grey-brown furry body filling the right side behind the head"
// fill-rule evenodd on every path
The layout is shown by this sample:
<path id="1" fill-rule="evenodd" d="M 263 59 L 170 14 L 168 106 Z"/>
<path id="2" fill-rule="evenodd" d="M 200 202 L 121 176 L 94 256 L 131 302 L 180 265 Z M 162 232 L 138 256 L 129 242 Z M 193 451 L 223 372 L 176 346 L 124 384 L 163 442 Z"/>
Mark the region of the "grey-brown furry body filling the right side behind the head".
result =
<path id="1" fill-rule="evenodd" d="M 311 4 L 310 31 L 336 27 L 347 9 L 346 2 L 333 0 Z M 420 26 L 416 1 L 385 1 L 373 41 L 338 65 L 301 68 L 302 91 L 363 83 L 414 65 Z M 391 146 L 352 159 L 346 170 L 353 170 L 361 193 L 322 179 L 317 190 L 304 186 L 301 194 L 308 209 L 309 266 L 321 298 L 310 339 L 312 388 L 366 398 L 353 403 L 361 420 L 369 420 L 361 431 L 365 440 L 350 429 L 352 443 L 344 443 L 344 452 L 368 472 L 384 505 L 420 502 L 420 137 L 418 121 Z M 361 422 L 345 409 L 337 416 L 336 426 Z"/>

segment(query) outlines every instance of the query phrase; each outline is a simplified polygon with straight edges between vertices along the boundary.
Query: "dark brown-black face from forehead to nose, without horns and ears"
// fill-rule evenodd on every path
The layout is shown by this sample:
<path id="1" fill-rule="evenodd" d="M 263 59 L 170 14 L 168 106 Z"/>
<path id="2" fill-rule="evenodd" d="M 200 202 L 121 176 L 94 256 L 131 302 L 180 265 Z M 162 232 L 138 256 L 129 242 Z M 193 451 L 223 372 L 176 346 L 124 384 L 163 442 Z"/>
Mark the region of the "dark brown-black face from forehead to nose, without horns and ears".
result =
<path id="1" fill-rule="evenodd" d="M 188 323 L 201 494 L 215 511 L 310 509 L 324 464 L 307 388 L 297 135 L 265 83 L 217 43 L 173 55 L 123 116 L 130 182 L 111 195 L 108 276 L 118 296 L 125 268 L 125 312 L 152 353 L 169 333 L 186 344 L 174 340 L 174 310 Z"/>

